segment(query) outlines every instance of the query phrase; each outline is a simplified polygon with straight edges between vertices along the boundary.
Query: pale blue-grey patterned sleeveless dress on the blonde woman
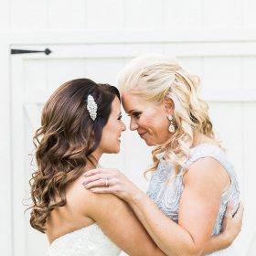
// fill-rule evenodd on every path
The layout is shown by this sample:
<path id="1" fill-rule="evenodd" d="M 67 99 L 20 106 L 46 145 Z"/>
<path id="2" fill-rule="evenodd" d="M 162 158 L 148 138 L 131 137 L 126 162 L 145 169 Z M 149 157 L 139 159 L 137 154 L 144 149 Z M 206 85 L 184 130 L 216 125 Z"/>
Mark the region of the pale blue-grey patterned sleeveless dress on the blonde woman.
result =
<path id="1" fill-rule="evenodd" d="M 240 190 L 234 168 L 229 164 L 225 153 L 215 144 L 198 144 L 190 149 L 190 157 L 187 160 L 185 167 L 189 167 L 199 158 L 212 157 L 222 165 L 230 178 L 229 188 L 223 192 L 219 201 L 219 212 L 215 221 L 212 235 L 219 234 L 221 231 L 222 220 L 226 211 L 227 203 L 231 199 L 233 202 L 233 214 L 236 213 L 240 203 Z M 160 162 L 157 169 L 151 176 L 150 184 L 147 190 L 147 195 L 156 204 L 158 208 L 169 219 L 178 222 L 179 200 L 184 189 L 183 175 L 184 169 L 181 169 L 179 175 L 174 176 L 173 166 L 163 159 L 163 155 L 159 156 Z M 172 176 L 171 182 L 166 185 L 166 181 Z M 226 250 L 216 251 L 208 255 L 214 256 L 235 256 L 236 252 L 230 246 Z"/>

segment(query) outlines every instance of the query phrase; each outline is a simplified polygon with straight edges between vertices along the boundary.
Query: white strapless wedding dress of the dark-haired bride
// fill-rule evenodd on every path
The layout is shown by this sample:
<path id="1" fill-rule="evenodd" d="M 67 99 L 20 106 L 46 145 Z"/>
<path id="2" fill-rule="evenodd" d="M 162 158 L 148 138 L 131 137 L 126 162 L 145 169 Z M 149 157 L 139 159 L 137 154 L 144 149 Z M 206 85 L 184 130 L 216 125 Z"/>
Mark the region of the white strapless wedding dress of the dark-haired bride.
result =
<path id="1" fill-rule="evenodd" d="M 54 240 L 48 256 L 117 256 L 121 250 L 93 223 Z"/>

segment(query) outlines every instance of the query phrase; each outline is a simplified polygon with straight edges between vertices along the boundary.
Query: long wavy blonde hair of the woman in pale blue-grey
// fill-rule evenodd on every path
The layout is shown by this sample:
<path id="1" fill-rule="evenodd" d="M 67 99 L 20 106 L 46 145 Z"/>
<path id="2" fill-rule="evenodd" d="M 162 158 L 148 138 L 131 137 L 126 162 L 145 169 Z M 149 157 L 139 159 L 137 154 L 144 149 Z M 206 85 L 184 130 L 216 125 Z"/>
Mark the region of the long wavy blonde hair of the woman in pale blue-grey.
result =
<path id="1" fill-rule="evenodd" d="M 194 135 L 203 133 L 215 139 L 208 116 L 208 104 L 198 97 L 199 78 L 182 69 L 176 59 L 160 54 L 148 54 L 130 61 L 119 73 L 117 83 L 121 91 L 130 91 L 145 101 L 162 102 L 169 98 L 174 103 L 175 133 L 165 144 L 152 152 L 154 171 L 158 155 L 175 166 L 176 175 L 189 158 Z"/>

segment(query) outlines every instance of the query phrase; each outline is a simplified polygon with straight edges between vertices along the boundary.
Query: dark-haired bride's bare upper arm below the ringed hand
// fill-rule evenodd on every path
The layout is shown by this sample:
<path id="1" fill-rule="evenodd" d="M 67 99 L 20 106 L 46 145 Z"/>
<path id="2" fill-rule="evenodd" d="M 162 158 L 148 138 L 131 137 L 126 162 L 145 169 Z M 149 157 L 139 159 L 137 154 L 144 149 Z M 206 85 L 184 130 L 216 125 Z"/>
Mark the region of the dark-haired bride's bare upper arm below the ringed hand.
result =
<path id="1" fill-rule="evenodd" d="M 80 205 L 85 206 L 84 214 L 94 219 L 120 249 L 132 256 L 165 255 L 123 200 L 111 194 L 97 195 L 81 188 L 84 192 L 80 194 Z"/>

